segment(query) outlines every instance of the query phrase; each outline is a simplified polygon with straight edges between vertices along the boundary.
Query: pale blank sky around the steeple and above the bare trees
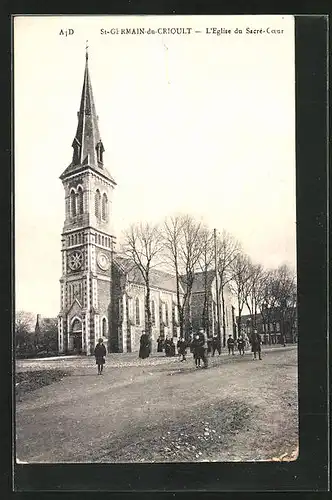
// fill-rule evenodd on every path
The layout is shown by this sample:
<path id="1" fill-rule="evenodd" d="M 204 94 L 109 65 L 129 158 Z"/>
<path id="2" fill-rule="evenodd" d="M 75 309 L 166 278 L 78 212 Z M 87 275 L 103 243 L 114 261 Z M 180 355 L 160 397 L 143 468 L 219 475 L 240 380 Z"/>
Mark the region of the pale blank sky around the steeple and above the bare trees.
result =
<path id="1" fill-rule="evenodd" d="M 202 32 L 100 33 L 176 26 Z M 212 27 L 232 33 L 206 34 Z M 118 239 L 132 222 L 183 212 L 227 229 L 266 267 L 295 267 L 293 17 L 21 17 L 14 36 L 17 309 L 59 312 L 59 176 L 72 158 L 86 39 Z"/>

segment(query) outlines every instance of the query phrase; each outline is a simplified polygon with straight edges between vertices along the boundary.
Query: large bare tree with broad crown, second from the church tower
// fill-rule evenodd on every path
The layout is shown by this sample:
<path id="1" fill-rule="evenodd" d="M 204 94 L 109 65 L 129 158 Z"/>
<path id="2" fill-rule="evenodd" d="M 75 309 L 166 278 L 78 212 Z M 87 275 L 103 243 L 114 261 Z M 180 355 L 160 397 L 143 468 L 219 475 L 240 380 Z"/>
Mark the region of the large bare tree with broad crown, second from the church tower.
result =
<path id="1" fill-rule="evenodd" d="M 202 226 L 189 215 L 178 215 L 165 221 L 163 234 L 166 255 L 175 271 L 180 334 L 184 336 L 186 330 L 188 338 L 191 330 L 191 293 L 202 253 Z"/>

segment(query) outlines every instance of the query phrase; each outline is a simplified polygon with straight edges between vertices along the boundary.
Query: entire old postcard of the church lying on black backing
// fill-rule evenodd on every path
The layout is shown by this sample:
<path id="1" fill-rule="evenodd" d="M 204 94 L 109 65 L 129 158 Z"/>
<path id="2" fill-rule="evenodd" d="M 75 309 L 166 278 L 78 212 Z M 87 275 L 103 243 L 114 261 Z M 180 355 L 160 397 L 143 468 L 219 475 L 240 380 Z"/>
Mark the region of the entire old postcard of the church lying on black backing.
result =
<path id="1" fill-rule="evenodd" d="M 298 455 L 293 16 L 16 16 L 18 464 Z"/>

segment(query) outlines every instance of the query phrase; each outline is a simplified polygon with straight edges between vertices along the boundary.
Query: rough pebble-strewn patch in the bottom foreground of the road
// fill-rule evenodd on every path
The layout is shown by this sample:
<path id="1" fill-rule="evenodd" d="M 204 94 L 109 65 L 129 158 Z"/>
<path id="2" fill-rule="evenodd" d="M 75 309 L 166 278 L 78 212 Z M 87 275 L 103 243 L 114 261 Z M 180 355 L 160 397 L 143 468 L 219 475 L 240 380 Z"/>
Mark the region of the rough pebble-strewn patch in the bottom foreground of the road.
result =
<path id="1" fill-rule="evenodd" d="M 242 401 L 224 399 L 192 407 L 181 421 L 148 426 L 127 436 L 126 443 L 113 443 L 98 462 L 209 462 L 232 445 L 250 426 L 253 409 Z"/>

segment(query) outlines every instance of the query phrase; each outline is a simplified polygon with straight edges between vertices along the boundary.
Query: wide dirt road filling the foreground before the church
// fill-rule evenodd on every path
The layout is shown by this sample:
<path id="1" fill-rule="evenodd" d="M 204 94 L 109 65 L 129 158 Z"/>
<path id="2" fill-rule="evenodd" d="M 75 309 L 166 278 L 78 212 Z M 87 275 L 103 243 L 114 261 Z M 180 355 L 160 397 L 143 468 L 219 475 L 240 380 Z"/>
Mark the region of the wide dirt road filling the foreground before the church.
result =
<path id="1" fill-rule="evenodd" d="M 70 375 L 17 401 L 23 462 L 252 461 L 290 457 L 297 447 L 297 349 L 210 358 L 110 355 L 18 362 L 18 370 Z"/>

